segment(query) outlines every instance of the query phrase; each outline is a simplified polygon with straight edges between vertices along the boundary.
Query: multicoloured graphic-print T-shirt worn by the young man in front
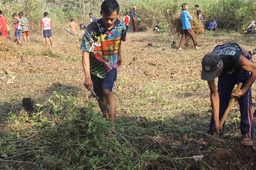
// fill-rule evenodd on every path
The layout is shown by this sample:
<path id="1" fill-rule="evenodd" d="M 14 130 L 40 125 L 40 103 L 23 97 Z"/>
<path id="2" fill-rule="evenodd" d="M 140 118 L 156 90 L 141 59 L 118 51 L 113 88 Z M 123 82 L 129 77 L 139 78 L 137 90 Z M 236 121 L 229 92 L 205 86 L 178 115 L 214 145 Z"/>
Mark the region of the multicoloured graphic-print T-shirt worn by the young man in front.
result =
<path id="1" fill-rule="evenodd" d="M 114 28 L 106 30 L 102 20 L 91 23 L 84 33 L 80 49 L 90 53 L 90 72 L 104 78 L 109 70 L 117 67 L 120 40 L 126 40 L 125 25 L 116 20 Z"/>

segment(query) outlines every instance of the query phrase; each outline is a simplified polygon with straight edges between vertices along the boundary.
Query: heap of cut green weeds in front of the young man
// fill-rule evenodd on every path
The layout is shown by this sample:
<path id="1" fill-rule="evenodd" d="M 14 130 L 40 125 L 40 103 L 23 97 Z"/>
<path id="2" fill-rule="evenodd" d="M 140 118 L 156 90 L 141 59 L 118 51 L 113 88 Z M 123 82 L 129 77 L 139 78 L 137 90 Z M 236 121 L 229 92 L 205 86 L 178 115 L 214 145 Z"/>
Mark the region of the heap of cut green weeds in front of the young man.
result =
<path id="1" fill-rule="evenodd" d="M 21 153 L 16 160 L 25 158 L 27 161 L 22 165 L 25 169 L 82 170 L 104 166 L 107 169 L 139 170 L 144 166 L 142 162 L 158 158 L 152 150 L 139 154 L 122 134 L 118 140 L 108 140 L 106 135 L 111 130 L 111 122 L 97 114 L 93 110 L 96 106 L 88 101 L 83 104 L 88 107 L 79 105 L 76 97 L 60 90 L 54 91 L 44 104 L 36 104 L 37 111 L 31 117 L 23 111 L 9 112 L 8 123 L 21 130 L 0 136 L 0 147 L 3 148 L 0 154 L 14 156 Z M 117 128 L 123 131 L 121 126 Z M 22 156 L 25 153 L 28 156 Z M 6 167 L 8 164 L 0 164 L 0 169 Z"/>

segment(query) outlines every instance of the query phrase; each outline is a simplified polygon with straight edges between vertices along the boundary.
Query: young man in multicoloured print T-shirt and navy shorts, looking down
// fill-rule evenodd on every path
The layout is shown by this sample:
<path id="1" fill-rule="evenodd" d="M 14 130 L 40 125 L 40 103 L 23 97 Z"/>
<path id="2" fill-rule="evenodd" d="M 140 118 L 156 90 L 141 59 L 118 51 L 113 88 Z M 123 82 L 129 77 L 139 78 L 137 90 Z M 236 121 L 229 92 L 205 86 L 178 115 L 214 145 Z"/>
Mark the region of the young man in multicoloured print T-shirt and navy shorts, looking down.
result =
<path id="1" fill-rule="evenodd" d="M 116 100 L 114 84 L 117 66 L 122 62 L 121 41 L 126 41 L 126 27 L 117 20 L 119 5 L 116 0 L 102 2 L 101 19 L 90 23 L 84 32 L 80 49 L 84 68 L 84 86 L 94 89 L 100 101 L 110 106 L 109 117 L 116 125 Z M 102 108 L 101 108 L 102 109 Z M 113 136 L 110 132 L 109 137 Z"/>

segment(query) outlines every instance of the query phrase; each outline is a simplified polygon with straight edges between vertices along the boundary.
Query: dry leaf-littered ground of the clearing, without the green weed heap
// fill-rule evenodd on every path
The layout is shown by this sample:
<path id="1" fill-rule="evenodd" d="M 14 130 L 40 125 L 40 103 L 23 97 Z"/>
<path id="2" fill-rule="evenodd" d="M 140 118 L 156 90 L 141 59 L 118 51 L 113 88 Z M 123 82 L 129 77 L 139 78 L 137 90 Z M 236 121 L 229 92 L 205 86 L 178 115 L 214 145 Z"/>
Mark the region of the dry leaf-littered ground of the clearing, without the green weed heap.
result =
<path id="1" fill-rule="evenodd" d="M 10 45 L 10 50 L 0 51 L 0 129 L 18 128 L 6 124 L 10 112 L 24 111 L 22 98 L 44 103 L 51 96 L 53 86 L 60 86 L 78 101 L 90 99 L 96 104 L 83 86 L 82 51 L 79 49 L 82 34 L 81 31 L 76 37 L 67 33 L 54 35 L 54 47 L 48 49 L 44 47 L 43 37 L 36 34 L 31 35 L 31 44 L 22 46 L 13 40 L 1 39 Z M 252 50 L 255 41 L 255 35 L 209 31 L 198 37 L 198 45 L 202 47 L 199 51 L 194 50 L 191 41 L 183 51 L 178 51 L 178 35 L 164 36 L 151 31 L 128 33 L 127 41 L 122 43 L 122 65 L 118 68 L 115 85 L 117 125 L 134 122 L 139 115 L 148 119 L 133 129 L 127 126 L 124 131 L 126 135 L 152 137 L 134 141 L 141 152 L 147 149 L 162 152 L 163 156 L 151 160 L 145 165 L 146 169 L 256 169 L 256 140 L 253 147 L 240 144 L 237 102 L 226 120 L 222 137 L 226 144 L 201 146 L 196 143 L 207 131 L 211 115 L 210 91 L 207 82 L 200 78 L 202 57 L 216 45 L 228 42 Z M 24 56 L 25 63 L 20 56 Z M 16 77 L 7 84 L 10 74 Z M 254 106 L 255 90 L 254 84 Z M 98 107 L 96 110 L 100 112 Z M 186 149 L 182 148 L 184 146 Z M 203 157 L 196 161 L 193 156 L 198 155 Z"/>

